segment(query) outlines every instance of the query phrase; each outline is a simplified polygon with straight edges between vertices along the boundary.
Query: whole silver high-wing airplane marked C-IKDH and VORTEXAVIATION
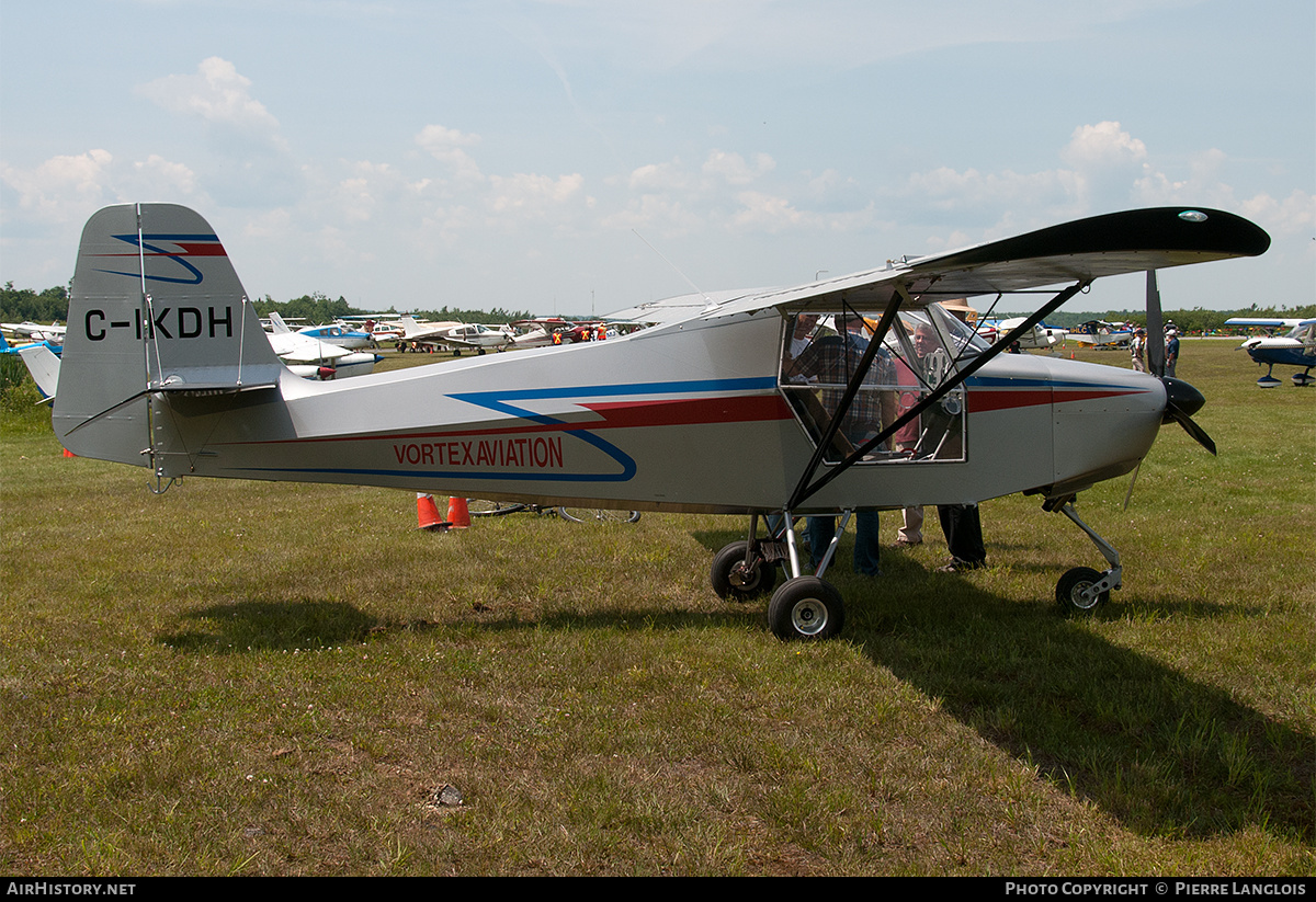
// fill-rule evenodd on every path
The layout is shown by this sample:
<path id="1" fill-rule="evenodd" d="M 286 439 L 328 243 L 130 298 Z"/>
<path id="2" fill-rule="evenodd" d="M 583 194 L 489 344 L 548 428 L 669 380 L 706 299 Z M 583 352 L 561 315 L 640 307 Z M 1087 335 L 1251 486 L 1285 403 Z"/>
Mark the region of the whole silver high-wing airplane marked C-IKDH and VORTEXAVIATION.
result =
<path id="1" fill-rule="evenodd" d="M 765 514 L 790 525 L 844 511 L 844 530 L 854 510 L 1024 492 L 1108 561 L 1057 584 L 1065 609 L 1090 610 L 1123 568 L 1078 518 L 1075 493 L 1137 467 L 1163 422 L 1213 452 L 1191 419 L 1203 397 L 1175 379 L 1003 354 L 1011 335 L 988 347 L 936 301 L 1057 287 L 1023 334 L 1094 279 L 1269 246 L 1229 213 L 1113 213 L 749 292 L 605 342 L 312 383 L 270 350 L 205 220 L 164 204 L 111 206 L 83 231 L 53 423 L 74 454 L 149 467 L 164 488 L 216 476 L 747 514 L 745 539 L 713 558 L 713 588 L 766 590 L 784 564 L 769 622 L 794 639 L 836 635 L 842 598 L 824 572 L 801 573 L 792 530 L 761 535 Z M 1159 304 L 1152 281 L 1149 305 Z M 837 351 L 840 376 L 801 376 L 792 338 L 804 316 L 876 325 L 862 352 Z M 916 400 L 859 421 L 866 408 L 884 417 L 874 401 L 891 393 Z"/>

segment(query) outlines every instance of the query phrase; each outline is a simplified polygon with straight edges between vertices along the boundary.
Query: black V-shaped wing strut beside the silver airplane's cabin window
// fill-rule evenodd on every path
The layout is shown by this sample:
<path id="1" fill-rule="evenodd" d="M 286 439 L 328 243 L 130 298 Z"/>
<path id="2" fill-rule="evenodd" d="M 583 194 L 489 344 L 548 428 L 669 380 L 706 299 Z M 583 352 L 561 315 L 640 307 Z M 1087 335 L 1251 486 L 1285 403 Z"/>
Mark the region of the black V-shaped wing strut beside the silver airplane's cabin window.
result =
<path id="1" fill-rule="evenodd" d="M 804 473 L 800 476 L 799 484 L 795 487 L 795 492 L 791 494 L 791 500 L 786 504 L 786 510 L 795 510 L 804 501 L 816 494 L 822 487 L 834 480 L 837 476 L 848 471 L 850 467 L 863 460 L 863 455 L 871 452 L 879 444 L 886 442 L 888 438 L 895 435 L 907 423 L 917 418 L 924 410 L 930 408 L 933 404 L 940 401 L 942 397 L 953 392 L 955 388 L 962 385 L 966 379 L 978 372 L 990 360 L 994 360 L 998 355 L 1003 354 L 1020 335 L 1028 334 L 1033 330 L 1033 326 L 1040 323 L 1042 320 L 1054 313 L 1062 304 L 1078 295 L 1080 291 L 1092 284 L 1091 279 L 1074 283 L 1059 295 L 1053 297 L 1050 301 L 1044 304 L 1033 316 L 1028 317 L 1015 329 L 1011 329 L 1004 338 L 1000 338 L 990 348 L 975 356 L 973 360 L 965 366 L 963 369 L 955 369 L 954 375 L 938 385 L 934 391 L 928 393 L 921 401 L 909 408 L 905 413 L 896 417 L 895 422 L 883 429 L 880 433 L 874 435 L 871 439 L 863 443 L 862 447 L 854 450 L 849 458 L 842 460 L 840 464 L 829 469 L 820 479 L 813 480 L 817 473 L 819 467 L 822 464 L 822 455 L 829 447 L 837 430 L 841 427 L 841 421 L 850 409 L 850 402 L 854 396 L 859 392 L 859 385 L 863 383 L 865 376 L 869 373 L 869 368 L 873 366 L 873 359 L 876 356 L 876 351 L 882 339 L 886 337 L 887 329 L 891 326 L 891 321 L 895 318 L 896 310 L 900 308 L 901 300 L 908 300 L 908 289 L 903 284 L 896 284 L 898 297 L 892 298 L 891 304 L 887 305 L 887 312 L 882 316 L 882 322 L 878 323 L 878 331 L 874 334 L 873 341 L 869 342 L 869 347 L 859 362 L 858 368 L 850 377 L 850 384 L 846 387 L 845 394 L 841 398 L 841 404 L 837 406 L 834 414 L 832 414 L 832 421 L 828 423 L 826 431 L 822 440 L 819 442 L 817 450 L 813 452 L 813 458 L 809 460 L 808 465 L 804 468 Z M 813 480 L 812 483 L 809 480 Z"/>

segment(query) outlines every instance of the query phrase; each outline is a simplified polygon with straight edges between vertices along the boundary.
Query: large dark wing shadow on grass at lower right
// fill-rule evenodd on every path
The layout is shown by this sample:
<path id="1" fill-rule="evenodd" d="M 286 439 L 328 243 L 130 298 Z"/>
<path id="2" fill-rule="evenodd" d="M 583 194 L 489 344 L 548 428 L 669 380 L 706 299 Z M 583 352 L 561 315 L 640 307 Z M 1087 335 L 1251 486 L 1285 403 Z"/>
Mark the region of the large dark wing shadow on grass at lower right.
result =
<path id="1" fill-rule="evenodd" d="M 695 538 L 720 548 L 741 536 Z M 1316 838 L 1312 736 L 1111 644 L 1049 598 L 1020 604 L 900 554 L 883 555 L 879 581 L 844 565 L 833 573 L 846 598 L 845 638 L 874 664 L 1125 827 L 1204 838 L 1255 826 Z M 1215 615 L 1200 600 L 1152 606 Z"/>

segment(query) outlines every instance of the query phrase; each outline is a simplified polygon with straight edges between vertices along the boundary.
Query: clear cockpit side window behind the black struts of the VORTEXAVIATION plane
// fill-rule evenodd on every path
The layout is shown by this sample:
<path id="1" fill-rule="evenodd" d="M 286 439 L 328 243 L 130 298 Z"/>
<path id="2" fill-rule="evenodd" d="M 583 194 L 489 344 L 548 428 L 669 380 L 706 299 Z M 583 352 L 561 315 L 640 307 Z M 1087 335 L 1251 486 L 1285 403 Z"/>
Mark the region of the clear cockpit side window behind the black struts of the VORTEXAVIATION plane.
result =
<path id="1" fill-rule="evenodd" d="M 778 385 L 815 446 L 844 402 L 870 342 L 880 341 L 824 459 L 840 463 L 887 430 L 986 344 L 936 304 L 901 312 L 884 335 L 882 312 L 811 312 L 786 321 Z M 862 463 L 965 459 L 965 389 L 957 387 L 908 418 Z"/>

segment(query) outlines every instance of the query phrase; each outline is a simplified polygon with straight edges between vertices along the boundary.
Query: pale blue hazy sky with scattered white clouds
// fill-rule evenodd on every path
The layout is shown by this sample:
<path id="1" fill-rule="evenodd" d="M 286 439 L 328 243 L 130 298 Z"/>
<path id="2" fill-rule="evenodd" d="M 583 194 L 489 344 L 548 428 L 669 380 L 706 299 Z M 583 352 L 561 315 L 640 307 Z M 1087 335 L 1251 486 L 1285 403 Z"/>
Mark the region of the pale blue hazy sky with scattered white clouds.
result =
<path id="1" fill-rule="evenodd" d="M 0 0 L 0 281 L 170 201 L 253 297 L 590 316 L 1190 205 L 1273 243 L 1167 309 L 1312 304 L 1313 47 L 1311 0 Z"/>

